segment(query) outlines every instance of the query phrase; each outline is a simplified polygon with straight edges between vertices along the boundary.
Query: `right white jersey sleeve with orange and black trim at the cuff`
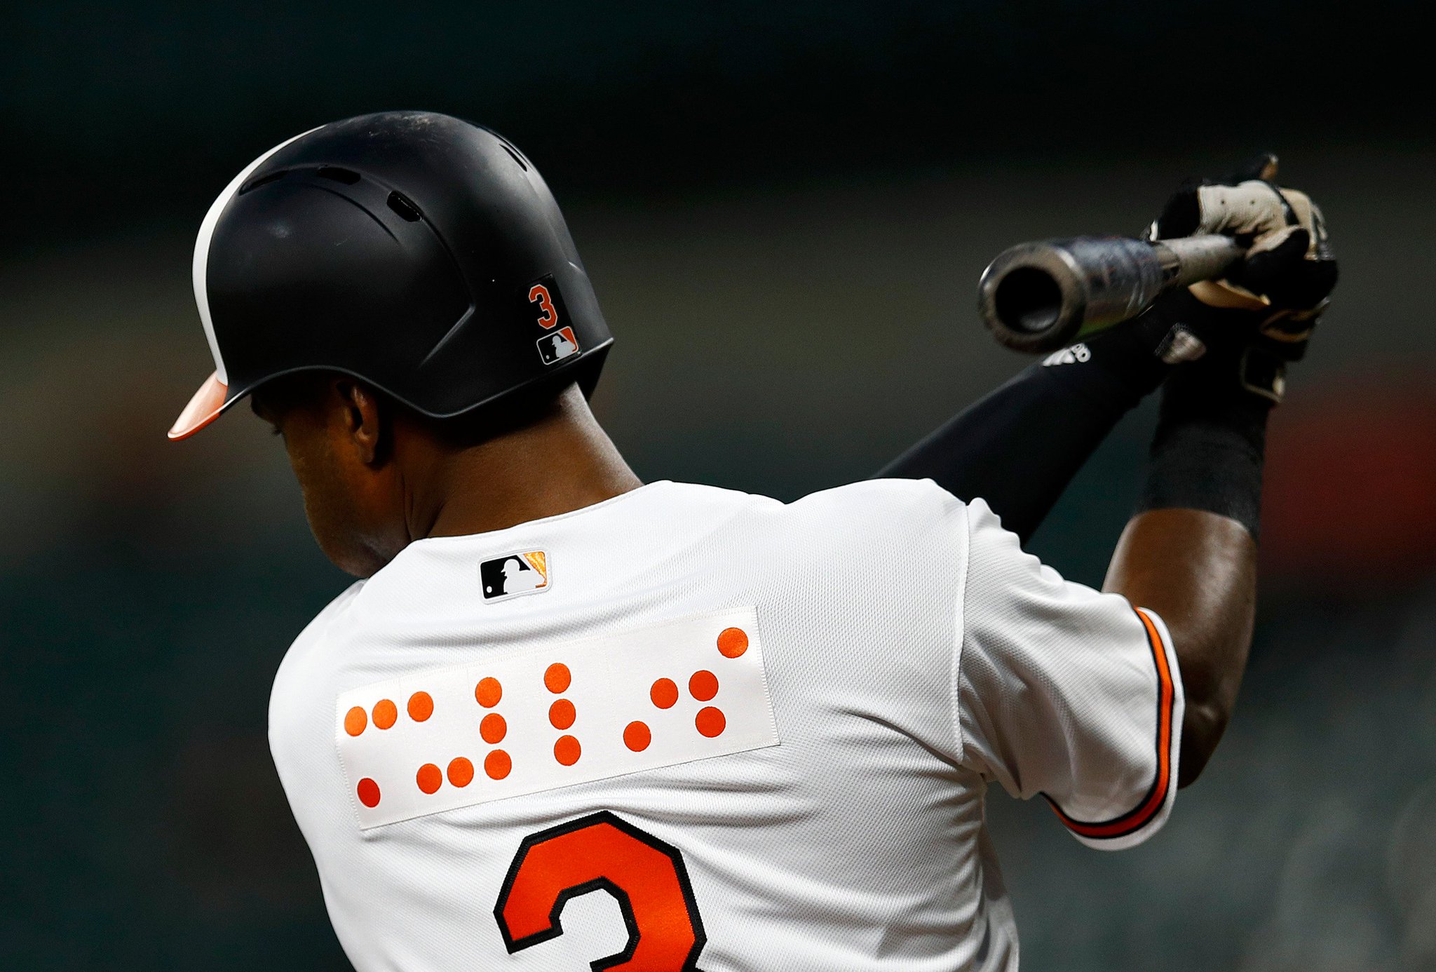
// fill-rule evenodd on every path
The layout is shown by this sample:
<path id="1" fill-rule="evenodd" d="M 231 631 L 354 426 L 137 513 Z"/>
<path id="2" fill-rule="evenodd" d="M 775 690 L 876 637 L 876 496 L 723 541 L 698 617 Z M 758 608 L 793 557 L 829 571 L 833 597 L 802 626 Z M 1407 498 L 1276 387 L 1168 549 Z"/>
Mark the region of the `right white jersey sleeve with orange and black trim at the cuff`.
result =
<path id="1" fill-rule="evenodd" d="M 1156 833 L 1176 795 L 1182 679 L 1162 619 L 1063 580 L 981 500 L 966 507 L 959 761 L 1043 795 L 1084 844 Z"/>

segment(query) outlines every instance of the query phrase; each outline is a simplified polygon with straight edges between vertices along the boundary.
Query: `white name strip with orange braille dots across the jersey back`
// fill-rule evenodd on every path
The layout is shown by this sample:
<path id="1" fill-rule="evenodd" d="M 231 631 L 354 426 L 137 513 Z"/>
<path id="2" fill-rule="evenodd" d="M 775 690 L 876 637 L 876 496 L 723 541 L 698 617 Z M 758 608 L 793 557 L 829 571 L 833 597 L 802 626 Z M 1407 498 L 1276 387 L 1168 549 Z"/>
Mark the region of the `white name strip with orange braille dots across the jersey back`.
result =
<path id="1" fill-rule="evenodd" d="M 360 830 L 778 744 L 752 607 L 376 682 L 335 715 Z"/>

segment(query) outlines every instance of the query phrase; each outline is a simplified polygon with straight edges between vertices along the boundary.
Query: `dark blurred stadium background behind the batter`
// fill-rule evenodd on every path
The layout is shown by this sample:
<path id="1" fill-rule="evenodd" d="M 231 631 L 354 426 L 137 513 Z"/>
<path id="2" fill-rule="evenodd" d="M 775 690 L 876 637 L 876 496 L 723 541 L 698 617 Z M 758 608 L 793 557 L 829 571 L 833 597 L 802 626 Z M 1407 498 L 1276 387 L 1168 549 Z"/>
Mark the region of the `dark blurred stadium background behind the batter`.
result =
<path id="1" fill-rule="evenodd" d="M 426 108 L 544 171 L 619 336 L 595 408 L 645 478 L 794 498 L 1024 362 L 1002 247 L 1134 233 L 1275 149 L 1335 307 L 1272 422 L 1228 739 L 1124 854 L 1001 794 L 1031 969 L 1436 968 L 1436 144 L 1425 4 L 528 3 L 7 9 L 0 36 L 0 966 L 345 969 L 266 745 L 346 579 L 211 370 L 192 234 L 253 156 Z M 1149 412 L 1034 548 L 1100 583 Z M 1032 448 L 1041 448 L 1034 442 Z M 854 882 L 862 874 L 853 874 Z"/>

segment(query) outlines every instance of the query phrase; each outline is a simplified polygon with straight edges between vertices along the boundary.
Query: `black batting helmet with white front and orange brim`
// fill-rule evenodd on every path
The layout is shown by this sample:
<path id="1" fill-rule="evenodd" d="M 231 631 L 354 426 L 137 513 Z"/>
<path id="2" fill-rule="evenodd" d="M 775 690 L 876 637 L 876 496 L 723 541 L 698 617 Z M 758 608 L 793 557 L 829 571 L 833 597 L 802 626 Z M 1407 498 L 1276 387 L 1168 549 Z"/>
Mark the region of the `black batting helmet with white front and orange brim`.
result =
<path id="1" fill-rule="evenodd" d="M 254 159 L 200 224 L 194 296 L 215 372 L 172 439 L 300 370 L 432 418 L 544 382 L 589 393 L 613 342 L 533 164 L 432 112 L 333 122 Z"/>

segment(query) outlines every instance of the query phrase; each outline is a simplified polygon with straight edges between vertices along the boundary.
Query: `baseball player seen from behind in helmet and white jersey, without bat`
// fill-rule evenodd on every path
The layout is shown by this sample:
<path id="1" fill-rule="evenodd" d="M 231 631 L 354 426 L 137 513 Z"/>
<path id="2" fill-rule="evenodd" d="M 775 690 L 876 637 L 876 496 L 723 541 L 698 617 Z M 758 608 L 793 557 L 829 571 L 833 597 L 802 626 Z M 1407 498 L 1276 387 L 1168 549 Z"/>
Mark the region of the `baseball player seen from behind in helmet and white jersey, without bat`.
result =
<path id="1" fill-rule="evenodd" d="M 1232 280 L 1030 369 L 906 478 L 781 504 L 629 471 L 586 403 L 612 337 L 498 135 L 369 115 L 240 172 L 194 257 L 215 373 L 169 435 L 250 396 L 360 577 L 270 702 L 353 965 L 1017 968 L 987 787 L 1129 847 L 1231 714 L 1265 415 L 1334 284 L 1320 214 L 1258 175 L 1152 230 L 1239 234 Z M 1106 593 L 1064 581 L 1004 520 L 1163 380 Z"/>

